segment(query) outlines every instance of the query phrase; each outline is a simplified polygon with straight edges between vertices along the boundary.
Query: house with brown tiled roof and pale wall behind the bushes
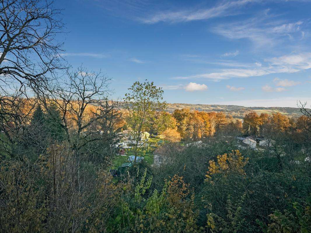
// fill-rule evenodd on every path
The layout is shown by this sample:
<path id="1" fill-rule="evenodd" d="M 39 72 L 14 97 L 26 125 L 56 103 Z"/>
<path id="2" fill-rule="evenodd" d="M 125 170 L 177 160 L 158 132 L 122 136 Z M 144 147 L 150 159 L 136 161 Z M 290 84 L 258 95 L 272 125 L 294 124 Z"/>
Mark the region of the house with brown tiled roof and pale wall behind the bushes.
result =
<path id="1" fill-rule="evenodd" d="M 153 152 L 153 164 L 155 167 L 160 166 L 161 164 L 169 162 L 171 156 L 183 152 L 186 147 L 180 145 L 172 145 L 172 144 L 165 144 L 163 146 L 158 147 Z"/>

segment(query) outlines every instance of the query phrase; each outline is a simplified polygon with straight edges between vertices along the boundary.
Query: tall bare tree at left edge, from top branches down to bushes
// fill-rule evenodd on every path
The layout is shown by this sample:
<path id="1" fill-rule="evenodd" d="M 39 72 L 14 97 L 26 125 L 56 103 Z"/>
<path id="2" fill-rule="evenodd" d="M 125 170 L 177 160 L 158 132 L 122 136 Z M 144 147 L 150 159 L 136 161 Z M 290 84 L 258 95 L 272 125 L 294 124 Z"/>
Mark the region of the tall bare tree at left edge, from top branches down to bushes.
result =
<path id="1" fill-rule="evenodd" d="M 14 144 L 25 131 L 35 105 L 30 90 L 42 88 L 63 69 L 61 11 L 53 2 L 2 0 L 0 2 L 0 121 L 5 139 Z M 28 108 L 26 108 L 27 106 Z"/>

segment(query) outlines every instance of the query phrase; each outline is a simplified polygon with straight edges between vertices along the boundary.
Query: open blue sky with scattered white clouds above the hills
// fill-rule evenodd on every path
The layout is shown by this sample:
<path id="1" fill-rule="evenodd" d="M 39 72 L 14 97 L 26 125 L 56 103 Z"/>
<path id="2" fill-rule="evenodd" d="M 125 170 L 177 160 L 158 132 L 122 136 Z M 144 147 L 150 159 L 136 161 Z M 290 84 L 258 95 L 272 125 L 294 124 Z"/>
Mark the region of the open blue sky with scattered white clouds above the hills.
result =
<path id="1" fill-rule="evenodd" d="M 169 103 L 311 104 L 311 1 L 57 1 L 73 67 L 114 98 L 154 81 Z"/>

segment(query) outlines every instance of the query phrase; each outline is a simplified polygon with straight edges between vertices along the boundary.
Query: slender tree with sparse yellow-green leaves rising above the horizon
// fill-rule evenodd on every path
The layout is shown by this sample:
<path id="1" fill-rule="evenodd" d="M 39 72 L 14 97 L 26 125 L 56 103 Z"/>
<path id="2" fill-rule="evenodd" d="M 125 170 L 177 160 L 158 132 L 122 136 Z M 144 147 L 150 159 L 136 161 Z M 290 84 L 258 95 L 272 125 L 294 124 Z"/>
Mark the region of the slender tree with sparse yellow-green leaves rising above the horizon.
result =
<path id="1" fill-rule="evenodd" d="M 164 110 L 166 103 L 162 101 L 162 88 L 157 88 L 153 82 L 137 81 L 128 90 L 129 93 L 124 97 L 124 109 L 134 145 L 134 162 L 136 162 L 137 154 L 144 144 L 144 142 L 140 143 L 142 132 L 150 128 L 155 112 Z"/>

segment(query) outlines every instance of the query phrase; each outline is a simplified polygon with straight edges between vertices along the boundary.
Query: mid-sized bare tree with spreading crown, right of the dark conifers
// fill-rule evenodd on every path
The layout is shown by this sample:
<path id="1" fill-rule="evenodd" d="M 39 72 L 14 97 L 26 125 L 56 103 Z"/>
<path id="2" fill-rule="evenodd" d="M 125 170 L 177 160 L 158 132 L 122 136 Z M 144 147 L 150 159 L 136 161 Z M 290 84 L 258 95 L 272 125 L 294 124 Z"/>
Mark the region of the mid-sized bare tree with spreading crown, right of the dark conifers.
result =
<path id="1" fill-rule="evenodd" d="M 109 100 L 109 81 L 100 72 L 79 67 L 77 71 L 67 71 L 65 83 L 37 92 L 47 111 L 50 105 L 60 111 L 61 126 L 76 152 L 94 141 L 113 143 L 116 139 L 114 123 L 120 113 L 118 102 Z"/>

